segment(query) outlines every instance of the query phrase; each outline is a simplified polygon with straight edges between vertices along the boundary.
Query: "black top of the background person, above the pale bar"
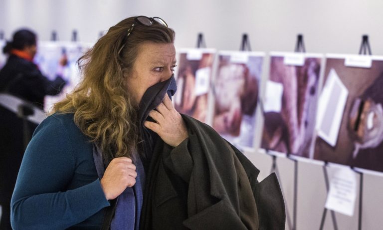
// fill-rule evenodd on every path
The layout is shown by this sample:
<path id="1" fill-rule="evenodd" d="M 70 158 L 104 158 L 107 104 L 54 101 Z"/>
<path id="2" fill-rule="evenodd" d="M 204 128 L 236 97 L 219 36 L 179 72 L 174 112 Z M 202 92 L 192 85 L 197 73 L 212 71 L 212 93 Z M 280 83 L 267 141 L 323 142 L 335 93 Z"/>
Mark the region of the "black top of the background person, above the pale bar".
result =
<path id="1" fill-rule="evenodd" d="M 41 109 L 44 96 L 58 94 L 64 85 L 60 76 L 50 81 L 33 62 L 12 54 L 0 70 L 0 92 L 20 97 Z"/>

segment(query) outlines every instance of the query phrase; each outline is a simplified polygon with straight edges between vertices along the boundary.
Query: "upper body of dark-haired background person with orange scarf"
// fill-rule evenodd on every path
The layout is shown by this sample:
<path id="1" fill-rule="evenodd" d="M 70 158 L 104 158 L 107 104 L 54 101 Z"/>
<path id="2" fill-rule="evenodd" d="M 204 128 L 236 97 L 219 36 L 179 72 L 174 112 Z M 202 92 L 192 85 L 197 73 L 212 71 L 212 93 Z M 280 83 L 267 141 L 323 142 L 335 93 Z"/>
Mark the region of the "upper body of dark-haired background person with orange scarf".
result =
<path id="1" fill-rule="evenodd" d="M 0 92 L 26 100 L 43 109 L 45 95 L 57 95 L 65 85 L 62 78 L 67 59 L 59 61 L 56 78 L 51 81 L 33 63 L 37 52 L 37 36 L 29 29 L 20 29 L 7 41 L 3 53 L 8 54 L 0 70 Z"/>

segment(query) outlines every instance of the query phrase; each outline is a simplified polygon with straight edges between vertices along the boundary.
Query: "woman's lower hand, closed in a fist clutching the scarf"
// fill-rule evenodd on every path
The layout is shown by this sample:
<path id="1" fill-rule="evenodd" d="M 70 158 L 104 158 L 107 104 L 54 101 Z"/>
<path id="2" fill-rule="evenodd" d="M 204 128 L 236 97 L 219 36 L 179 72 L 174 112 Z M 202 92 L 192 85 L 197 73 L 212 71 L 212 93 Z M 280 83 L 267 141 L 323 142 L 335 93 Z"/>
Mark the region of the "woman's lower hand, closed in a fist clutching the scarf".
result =
<path id="1" fill-rule="evenodd" d="M 127 157 L 114 158 L 101 178 L 101 187 L 107 200 L 113 200 L 136 184 L 136 166 Z"/>

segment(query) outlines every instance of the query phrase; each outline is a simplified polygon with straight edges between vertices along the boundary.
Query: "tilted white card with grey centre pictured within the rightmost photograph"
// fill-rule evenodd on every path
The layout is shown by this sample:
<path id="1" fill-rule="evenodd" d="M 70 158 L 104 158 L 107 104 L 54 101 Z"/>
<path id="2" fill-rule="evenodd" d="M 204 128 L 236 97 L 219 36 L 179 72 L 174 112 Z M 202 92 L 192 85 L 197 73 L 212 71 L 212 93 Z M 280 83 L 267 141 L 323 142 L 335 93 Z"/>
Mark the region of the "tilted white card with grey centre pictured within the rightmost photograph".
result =
<path id="1" fill-rule="evenodd" d="M 318 136 L 333 147 L 338 140 L 348 94 L 337 72 L 331 69 L 318 101 L 316 129 Z"/>

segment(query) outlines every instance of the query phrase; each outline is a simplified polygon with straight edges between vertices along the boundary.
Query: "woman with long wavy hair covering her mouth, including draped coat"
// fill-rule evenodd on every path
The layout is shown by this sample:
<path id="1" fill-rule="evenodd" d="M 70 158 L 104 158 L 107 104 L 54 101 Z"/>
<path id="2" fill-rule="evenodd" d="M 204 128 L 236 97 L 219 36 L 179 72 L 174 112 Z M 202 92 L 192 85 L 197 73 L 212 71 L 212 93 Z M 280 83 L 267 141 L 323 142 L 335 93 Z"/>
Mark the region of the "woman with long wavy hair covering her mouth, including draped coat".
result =
<path id="1" fill-rule="evenodd" d="M 14 229 L 284 228 L 276 177 L 257 183 L 239 151 L 173 107 L 173 42 L 161 18 L 130 17 L 81 58 L 82 83 L 26 150 Z"/>

